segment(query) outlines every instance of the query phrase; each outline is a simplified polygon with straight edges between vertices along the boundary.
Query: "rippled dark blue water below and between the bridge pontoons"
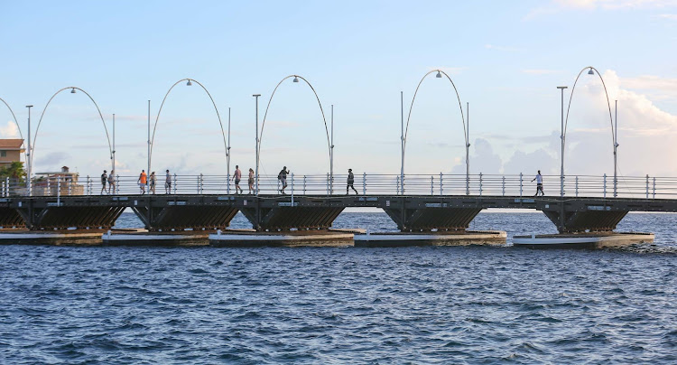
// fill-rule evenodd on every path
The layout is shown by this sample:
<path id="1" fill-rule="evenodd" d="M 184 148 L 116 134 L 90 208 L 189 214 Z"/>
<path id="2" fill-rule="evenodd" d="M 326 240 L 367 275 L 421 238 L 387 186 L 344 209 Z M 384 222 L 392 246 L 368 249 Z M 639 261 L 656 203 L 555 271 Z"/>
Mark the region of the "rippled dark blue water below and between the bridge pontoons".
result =
<path id="1" fill-rule="evenodd" d="M 630 214 L 654 246 L 601 251 L 0 246 L 0 363 L 675 363 L 676 218 Z"/>

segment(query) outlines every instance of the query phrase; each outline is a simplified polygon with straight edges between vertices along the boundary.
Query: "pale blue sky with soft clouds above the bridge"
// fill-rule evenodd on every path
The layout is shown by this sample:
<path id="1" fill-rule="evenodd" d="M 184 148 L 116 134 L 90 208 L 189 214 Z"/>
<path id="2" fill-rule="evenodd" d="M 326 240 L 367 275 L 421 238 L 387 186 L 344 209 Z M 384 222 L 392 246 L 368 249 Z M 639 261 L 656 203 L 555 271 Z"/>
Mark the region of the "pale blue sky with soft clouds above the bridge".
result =
<path id="1" fill-rule="evenodd" d="M 617 100 L 620 175 L 677 176 L 676 43 L 677 0 L 3 0 L 0 98 L 24 137 L 34 106 L 33 172 L 110 170 L 115 113 L 116 171 L 137 175 L 148 100 L 153 171 L 226 174 L 228 119 L 231 170 L 246 171 L 261 94 L 262 174 L 328 173 L 332 105 L 337 174 L 399 173 L 410 107 L 405 173 L 465 173 L 469 108 L 470 173 L 559 174 L 556 87 L 568 86 L 567 174 L 613 173 Z M 587 71 L 571 97 L 588 66 L 608 105 Z M 434 72 L 422 80 L 436 69 L 453 85 Z M 294 74 L 312 89 L 283 80 Z M 195 82 L 172 88 L 186 78 L 209 94 Z M 52 98 L 68 87 L 79 89 Z M 0 103 L 0 136 L 18 135 Z"/>

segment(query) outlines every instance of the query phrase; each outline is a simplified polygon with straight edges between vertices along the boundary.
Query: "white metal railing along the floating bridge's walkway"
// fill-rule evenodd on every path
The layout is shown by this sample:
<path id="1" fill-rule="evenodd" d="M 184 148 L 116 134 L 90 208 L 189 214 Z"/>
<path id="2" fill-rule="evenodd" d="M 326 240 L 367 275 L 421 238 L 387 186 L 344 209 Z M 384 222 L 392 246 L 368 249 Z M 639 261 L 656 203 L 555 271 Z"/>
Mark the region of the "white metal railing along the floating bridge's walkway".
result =
<path id="1" fill-rule="evenodd" d="M 247 177 L 239 182 L 242 193 L 249 193 Z M 325 174 L 290 173 L 286 178 L 285 194 L 295 195 L 483 195 L 530 197 L 536 193 L 534 176 L 519 174 L 399 174 L 356 173 L 352 188 L 348 175 L 336 174 L 333 179 Z M 70 195 L 136 195 L 154 194 L 235 194 L 236 184 L 231 175 L 172 174 L 169 181 L 158 175 L 146 184 L 138 176 L 116 175 L 114 183 L 105 189 L 100 178 L 90 176 L 32 181 L 32 196 Z M 165 183 L 169 182 L 169 183 Z M 277 175 L 261 175 L 259 194 L 282 194 L 283 182 Z M 543 192 L 546 196 L 561 195 L 559 175 L 543 175 Z M 252 194 L 256 193 L 253 183 Z M 0 180 L 0 196 L 29 195 L 24 181 L 5 178 Z M 677 178 L 658 176 L 567 175 L 564 177 L 563 195 L 566 197 L 677 199 Z"/>

